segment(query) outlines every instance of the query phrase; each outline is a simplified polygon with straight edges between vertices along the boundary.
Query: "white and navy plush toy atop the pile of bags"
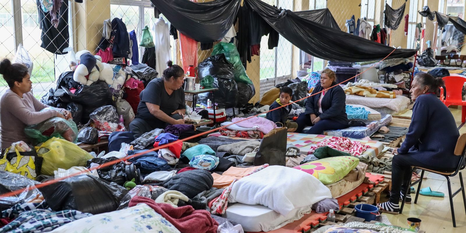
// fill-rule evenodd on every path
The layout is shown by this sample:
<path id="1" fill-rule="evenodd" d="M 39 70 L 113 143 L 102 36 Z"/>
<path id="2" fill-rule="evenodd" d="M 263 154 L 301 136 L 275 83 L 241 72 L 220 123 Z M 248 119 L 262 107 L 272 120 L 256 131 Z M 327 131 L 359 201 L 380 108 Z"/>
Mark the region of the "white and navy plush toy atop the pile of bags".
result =
<path id="1" fill-rule="evenodd" d="M 97 80 L 103 80 L 109 85 L 113 84 L 113 69 L 109 64 L 103 63 L 100 56 L 94 56 L 88 50 L 81 50 L 76 53 L 76 60 L 79 62 L 73 75 L 76 82 L 89 86 Z"/>

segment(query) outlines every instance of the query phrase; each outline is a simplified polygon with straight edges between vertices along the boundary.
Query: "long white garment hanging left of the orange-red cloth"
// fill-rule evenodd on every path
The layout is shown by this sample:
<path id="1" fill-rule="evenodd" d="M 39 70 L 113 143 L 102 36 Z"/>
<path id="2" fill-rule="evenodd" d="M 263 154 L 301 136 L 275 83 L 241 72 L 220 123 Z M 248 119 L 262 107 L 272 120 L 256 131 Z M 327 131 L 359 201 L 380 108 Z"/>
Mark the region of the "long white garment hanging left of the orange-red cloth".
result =
<path id="1" fill-rule="evenodd" d="M 168 23 L 163 18 L 159 18 L 152 27 L 154 32 L 155 44 L 155 70 L 163 73 L 166 69 L 166 63 L 171 60 L 170 55 L 170 29 Z"/>

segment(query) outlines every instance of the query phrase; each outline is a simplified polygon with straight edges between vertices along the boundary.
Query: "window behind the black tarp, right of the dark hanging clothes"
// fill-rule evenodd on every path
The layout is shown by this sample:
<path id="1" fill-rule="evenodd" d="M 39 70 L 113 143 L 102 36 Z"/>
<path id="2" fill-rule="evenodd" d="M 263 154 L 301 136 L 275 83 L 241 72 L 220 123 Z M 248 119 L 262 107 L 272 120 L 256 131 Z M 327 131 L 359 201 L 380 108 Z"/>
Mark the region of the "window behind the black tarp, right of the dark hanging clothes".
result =
<path id="1" fill-rule="evenodd" d="M 293 1 L 263 0 L 267 4 L 283 9 L 293 9 Z M 268 49 L 268 36 L 260 41 L 260 79 L 278 78 L 291 75 L 292 44 L 280 36 L 278 47 Z"/>

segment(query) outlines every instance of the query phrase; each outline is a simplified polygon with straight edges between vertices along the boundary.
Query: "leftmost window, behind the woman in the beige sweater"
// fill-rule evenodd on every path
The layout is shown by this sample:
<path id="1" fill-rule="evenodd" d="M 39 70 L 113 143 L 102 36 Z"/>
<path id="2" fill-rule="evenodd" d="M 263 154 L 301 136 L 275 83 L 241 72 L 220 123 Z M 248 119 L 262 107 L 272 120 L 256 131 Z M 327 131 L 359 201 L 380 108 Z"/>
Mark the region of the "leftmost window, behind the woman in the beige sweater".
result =
<path id="1" fill-rule="evenodd" d="M 69 4 L 68 25 L 72 25 L 72 5 Z M 31 81 L 36 98 L 55 87 L 56 77 L 69 67 L 69 55 L 54 55 L 41 48 L 42 30 L 38 15 L 35 0 L 0 0 L 0 57 L 13 59 L 17 46 L 20 43 L 23 45 L 34 63 Z M 15 21 L 18 23 L 15 24 Z M 69 27 L 69 36 L 72 46 L 72 27 Z M 0 79 L 0 95 L 7 89 L 7 83 Z"/>

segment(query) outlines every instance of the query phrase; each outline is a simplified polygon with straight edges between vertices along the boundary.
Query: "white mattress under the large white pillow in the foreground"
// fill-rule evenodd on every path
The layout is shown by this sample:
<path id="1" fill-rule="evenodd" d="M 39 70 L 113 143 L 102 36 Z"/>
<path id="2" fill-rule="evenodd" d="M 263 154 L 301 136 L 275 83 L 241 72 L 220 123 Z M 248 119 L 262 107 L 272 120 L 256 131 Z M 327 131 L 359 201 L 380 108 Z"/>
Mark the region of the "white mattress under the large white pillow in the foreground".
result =
<path id="1" fill-rule="evenodd" d="M 303 207 L 291 211 L 287 216 L 283 216 L 266 206 L 251 206 L 234 203 L 232 205 L 228 205 L 228 208 L 222 217 L 241 224 L 245 232 L 268 232 L 281 228 L 295 220 L 301 219 L 304 214 L 310 212 L 311 210 L 309 207 Z"/>

